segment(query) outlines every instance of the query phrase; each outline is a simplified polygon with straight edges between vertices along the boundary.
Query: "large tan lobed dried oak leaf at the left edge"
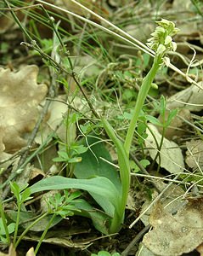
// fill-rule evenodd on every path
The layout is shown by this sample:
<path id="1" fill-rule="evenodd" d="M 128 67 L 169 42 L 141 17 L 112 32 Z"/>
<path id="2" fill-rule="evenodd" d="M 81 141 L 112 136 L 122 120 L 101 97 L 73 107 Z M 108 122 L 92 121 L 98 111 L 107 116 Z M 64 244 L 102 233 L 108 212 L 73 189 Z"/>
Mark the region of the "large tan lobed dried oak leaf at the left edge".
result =
<path id="1" fill-rule="evenodd" d="M 14 73 L 0 68 L 0 152 L 14 152 L 25 146 L 38 117 L 37 106 L 47 93 L 37 84 L 38 67 L 25 66 Z"/>

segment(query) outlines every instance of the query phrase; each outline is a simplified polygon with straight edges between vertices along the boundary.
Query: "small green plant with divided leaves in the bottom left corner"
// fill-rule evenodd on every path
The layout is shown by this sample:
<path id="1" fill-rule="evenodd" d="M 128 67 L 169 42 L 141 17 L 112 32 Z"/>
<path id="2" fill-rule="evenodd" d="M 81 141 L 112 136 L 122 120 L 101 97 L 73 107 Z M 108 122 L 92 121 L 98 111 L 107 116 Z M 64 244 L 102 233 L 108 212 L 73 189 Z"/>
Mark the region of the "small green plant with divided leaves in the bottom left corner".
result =
<path id="1" fill-rule="evenodd" d="M 10 236 L 14 234 L 13 244 L 15 248 L 18 247 L 20 241 L 23 239 L 26 233 L 29 230 L 31 230 L 33 226 L 39 223 L 42 220 L 42 218 L 47 218 L 49 216 L 50 218 L 48 218 L 48 224 L 43 230 L 42 236 L 40 237 L 37 243 L 37 247 L 35 249 L 35 253 L 37 254 L 39 247 L 41 246 L 42 241 L 48 232 L 48 229 L 54 223 L 54 218 L 56 218 L 57 216 L 61 218 L 67 218 L 68 216 L 73 216 L 75 212 L 80 211 L 77 207 L 75 207 L 75 204 L 81 202 L 81 200 L 78 199 L 78 197 L 80 197 L 81 195 L 81 192 L 75 191 L 70 193 L 69 191 L 64 190 L 64 195 L 57 193 L 53 197 L 50 197 L 48 198 L 48 200 L 46 200 L 48 204 L 48 211 L 38 216 L 34 221 L 32 221 L 31 224 L 29 224 L 18 237 L 18 230 L 20 228 L 20 214 L 21 212 L 25 212 L 25 207 L 23 206 L 25 201 L 31 199 L 31 189 L 27 188 L 27 185 L 20 187 L 20 185 L 15 182 L 10 183 L 10 187 L 16 199 L 17 212 L 14 215 L 16 221 L 15 223 L 7 224 L 7 219 L 4 214 L 3 205 L 0 204 L 2 208 L 2 218 L 0 218 L 0 239 L 3 243 L 10 244 Z"/>

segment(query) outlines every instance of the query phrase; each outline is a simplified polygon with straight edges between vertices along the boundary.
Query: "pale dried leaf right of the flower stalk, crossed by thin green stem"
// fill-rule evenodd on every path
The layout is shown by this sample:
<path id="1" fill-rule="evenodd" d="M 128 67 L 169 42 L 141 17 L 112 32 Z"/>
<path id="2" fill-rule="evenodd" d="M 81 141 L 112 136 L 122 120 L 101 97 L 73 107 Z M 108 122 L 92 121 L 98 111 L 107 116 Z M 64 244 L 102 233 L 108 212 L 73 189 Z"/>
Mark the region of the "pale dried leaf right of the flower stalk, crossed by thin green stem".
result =
<path id="1" fill-rule="evenodd" d="M 154 137 L 152 136 L 149 129 L 153 132 Z M 157 154 L 155 139 L 160 145 L 161 134 L 155 125 L 149 124 L 149 129 L 146 130 L 148 137 L 145 139 L 145 145 L 147 148 L 149 148 L 148 150 L 150 157 L 155 159 L 155 155 Z M 156 162 L 159 163 L 159 158 L 157 158 Z M 161 147 L 161 167 L 165 168 L 170 173 L 182 172 L 184 168 L 183 154 L 181 149 L 178 147 L 177 143 L 173 143 L 166 138 L 164 138 Z"/>

